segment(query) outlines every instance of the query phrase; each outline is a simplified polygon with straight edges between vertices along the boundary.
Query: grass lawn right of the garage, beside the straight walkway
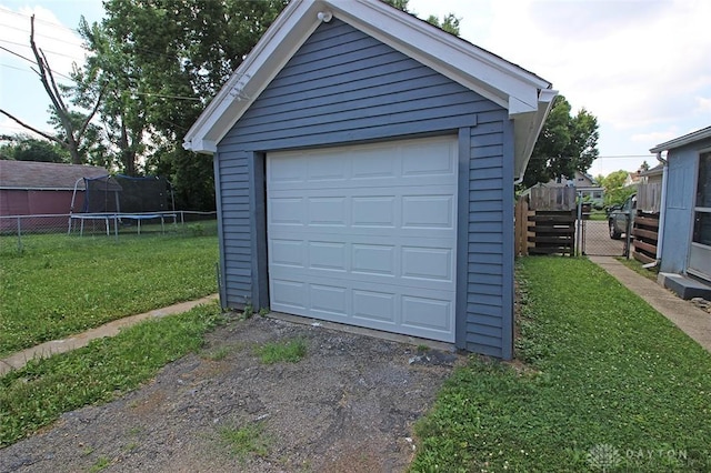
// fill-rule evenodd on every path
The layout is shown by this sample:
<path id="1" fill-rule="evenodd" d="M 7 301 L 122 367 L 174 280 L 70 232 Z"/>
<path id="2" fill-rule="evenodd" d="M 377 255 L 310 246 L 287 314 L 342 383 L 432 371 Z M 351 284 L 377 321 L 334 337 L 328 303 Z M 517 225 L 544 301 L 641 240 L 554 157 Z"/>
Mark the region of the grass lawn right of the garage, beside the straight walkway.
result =
<path id="1" fill-rule="evenodd" d="M 711 355 L 587 259 L 524 258 L 517 275 L 528 365 L 455 370 L 412 471 L 711 470 Z"/>

